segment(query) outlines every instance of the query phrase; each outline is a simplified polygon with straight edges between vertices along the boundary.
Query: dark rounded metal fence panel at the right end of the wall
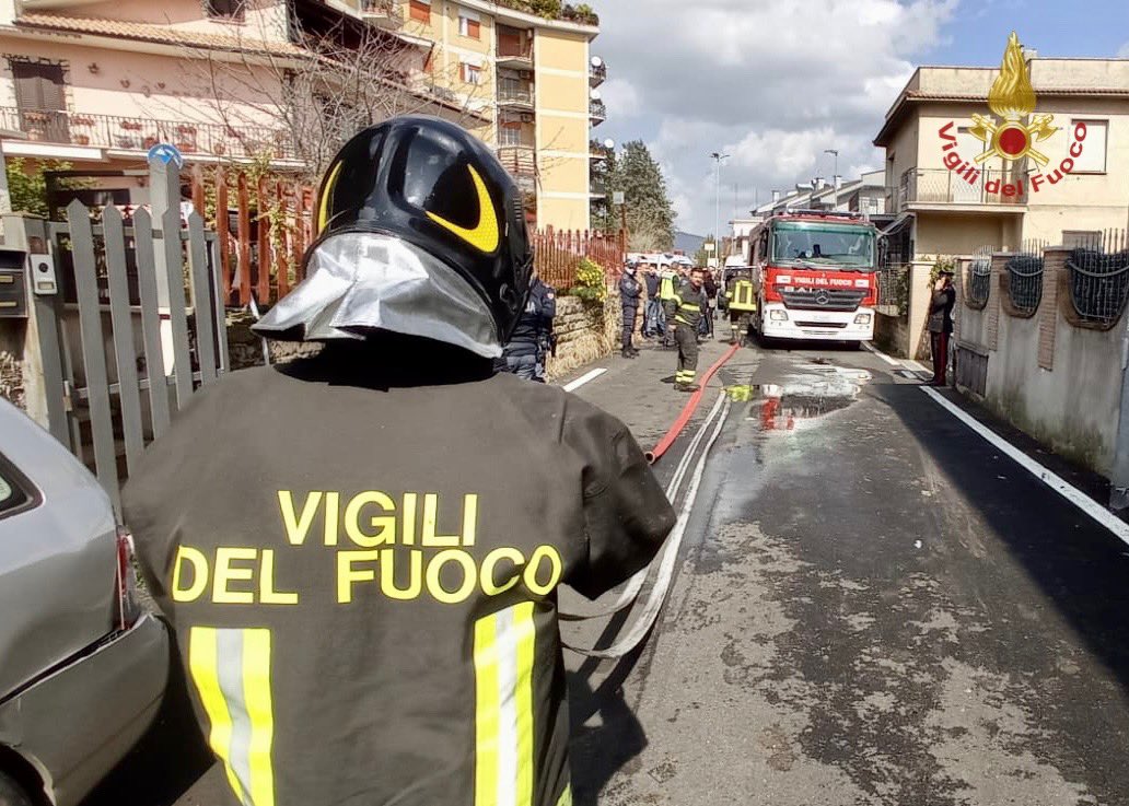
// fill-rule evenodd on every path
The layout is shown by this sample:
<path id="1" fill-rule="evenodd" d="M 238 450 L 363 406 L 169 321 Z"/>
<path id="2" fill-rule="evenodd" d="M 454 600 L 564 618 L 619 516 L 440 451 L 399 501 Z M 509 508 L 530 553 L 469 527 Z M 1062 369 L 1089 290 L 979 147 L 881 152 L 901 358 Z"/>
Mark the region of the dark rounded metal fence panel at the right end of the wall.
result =
<path id="1" fill-rule="evenodd" d="M 1129 299 L 1129 242 L 1124 230 L 1095 233 L 1067 257 L 1070 301 L 1078 318 L 1109 326 Z"/>

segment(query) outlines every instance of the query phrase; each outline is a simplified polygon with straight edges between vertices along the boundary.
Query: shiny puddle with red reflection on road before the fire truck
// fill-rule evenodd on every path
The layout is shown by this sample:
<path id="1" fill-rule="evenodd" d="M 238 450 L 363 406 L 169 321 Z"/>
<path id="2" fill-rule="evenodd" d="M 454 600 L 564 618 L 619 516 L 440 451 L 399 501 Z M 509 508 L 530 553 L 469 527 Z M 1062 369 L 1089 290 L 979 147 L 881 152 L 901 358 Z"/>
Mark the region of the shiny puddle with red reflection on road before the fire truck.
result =
<path id="1" fill-rule="evenodd" d="M 858 400 L 872 375 L 823 363 L 804 363 L 785 375 L 779 384 L 728 386 L 726 394 L 737 403 L 749 403 L 746 420 L 764 431 L 794 431 L 803 423 L 841 411 Z"/>

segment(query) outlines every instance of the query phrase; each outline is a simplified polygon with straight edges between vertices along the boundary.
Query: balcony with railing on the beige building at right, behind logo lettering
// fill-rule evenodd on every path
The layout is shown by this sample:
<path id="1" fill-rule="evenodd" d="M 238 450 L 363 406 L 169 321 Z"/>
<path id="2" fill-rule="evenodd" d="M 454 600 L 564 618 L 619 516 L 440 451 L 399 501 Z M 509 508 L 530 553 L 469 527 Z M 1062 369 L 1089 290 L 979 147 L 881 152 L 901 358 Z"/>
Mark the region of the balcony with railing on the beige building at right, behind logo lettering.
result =
<path id="1" fill-rule="evenodd" d="M 1018 170 L 982 170 L 969 182 L 946 168 L 910 168 L 898 187 L 886 191 L 887 209 L 894 213 L 916 208 L 998 210 L 1027 203 L 1026 176 Z"/>

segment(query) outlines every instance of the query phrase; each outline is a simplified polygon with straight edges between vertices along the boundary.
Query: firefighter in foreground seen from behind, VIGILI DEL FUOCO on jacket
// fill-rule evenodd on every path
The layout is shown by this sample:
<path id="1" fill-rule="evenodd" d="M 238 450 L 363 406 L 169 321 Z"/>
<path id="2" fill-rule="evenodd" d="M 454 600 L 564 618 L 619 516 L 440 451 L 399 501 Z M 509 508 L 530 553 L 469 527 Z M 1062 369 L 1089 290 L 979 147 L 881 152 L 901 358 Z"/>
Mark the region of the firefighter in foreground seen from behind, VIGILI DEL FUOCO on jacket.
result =
<path id="1" fill-rule="evenodd" d="M 321 352 L 204 387 L 124 490 L 210 806 L 570 804 L 557 586 L 622 582 L 671 506 L 622 423 L 493 373 L 532 256 L 484 144 L 365 130 L 316 214 L 255 327 Z"/>

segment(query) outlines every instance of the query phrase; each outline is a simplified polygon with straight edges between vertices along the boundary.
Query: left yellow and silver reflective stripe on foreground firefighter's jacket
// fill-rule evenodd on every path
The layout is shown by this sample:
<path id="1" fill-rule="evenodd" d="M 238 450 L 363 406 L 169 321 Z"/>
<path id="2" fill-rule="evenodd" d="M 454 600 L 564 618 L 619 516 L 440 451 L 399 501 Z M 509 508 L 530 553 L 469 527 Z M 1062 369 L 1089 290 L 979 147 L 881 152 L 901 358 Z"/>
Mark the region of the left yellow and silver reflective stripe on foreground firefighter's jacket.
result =
<path id="1" fill-rule="evenodd" d="M 274 806 L 270 630 L 194 627 L 189 669 L 208 713 L 208 744 L 246 806 Z"/>

